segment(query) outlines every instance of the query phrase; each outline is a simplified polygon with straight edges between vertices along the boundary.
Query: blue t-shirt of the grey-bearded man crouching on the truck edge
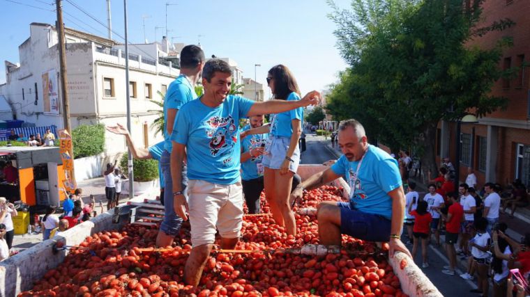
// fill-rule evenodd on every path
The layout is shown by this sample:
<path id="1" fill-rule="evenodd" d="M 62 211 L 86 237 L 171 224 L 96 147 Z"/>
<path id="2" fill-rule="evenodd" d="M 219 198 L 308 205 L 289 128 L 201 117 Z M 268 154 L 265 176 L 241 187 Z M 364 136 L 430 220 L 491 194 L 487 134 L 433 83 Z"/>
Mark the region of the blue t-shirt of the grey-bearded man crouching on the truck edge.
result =
<path id="1" fill-rule="evenodd" d="M 355 209 L 390 219 L 392 198 L 388 192 L 401 186 L 398 161 L 379 147 L 369 145 L 354 185 L 358 163 L 359 161 L 348 161 L 346 156 L 342 155 L 331 166 L 331 170 L 337 175 L 342 175 L 349 184 L 353 194 L 350 203 Z"/>

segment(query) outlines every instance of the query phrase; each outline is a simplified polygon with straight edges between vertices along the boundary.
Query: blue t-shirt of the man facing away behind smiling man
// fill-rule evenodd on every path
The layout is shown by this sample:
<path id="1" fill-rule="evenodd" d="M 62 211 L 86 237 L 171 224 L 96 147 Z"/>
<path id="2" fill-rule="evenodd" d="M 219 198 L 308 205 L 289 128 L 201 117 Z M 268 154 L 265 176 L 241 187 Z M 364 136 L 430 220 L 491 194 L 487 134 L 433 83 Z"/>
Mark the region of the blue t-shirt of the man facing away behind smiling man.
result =
<path id="1" fill-rule="evenodd" d="M 181 109 L 184 104 L 190 102 L 193 99 L 197 99 L 195 88 L 193 88 L 185 75 L 179 75 L 179 77 L 169 84 L 169 88 L 167 88 L 167 93 L 164 98 L 164 118 L 167 119 L 167 109 Z M 164 124 L 164 149 L 170 153 L 173 145 L 171 143 L 171 139 L 169 138 L 171 135 L 167 134 L 167 125 L 173 124 L 174 123 L 168 124 L 167 122 Z"/>

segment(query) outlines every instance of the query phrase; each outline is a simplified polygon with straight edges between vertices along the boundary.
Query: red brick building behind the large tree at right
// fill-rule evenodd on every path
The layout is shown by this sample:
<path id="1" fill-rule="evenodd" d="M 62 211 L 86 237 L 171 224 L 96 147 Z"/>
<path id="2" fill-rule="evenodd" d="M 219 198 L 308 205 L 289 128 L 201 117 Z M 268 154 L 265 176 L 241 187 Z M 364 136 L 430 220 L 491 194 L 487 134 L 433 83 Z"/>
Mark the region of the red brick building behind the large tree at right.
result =
<path id="1" fill-rule="evenodd" d="M 485 182 L 506 185 L 514 179 L 530 186 L 530 76 L 529 67 L 521 67 L 530 58 L 530 1 L 487 0 L 483 4 L 483 24 L 509 18 L 516 24 L 504 31 L 487 33 L 471 42 L 483 48 L 493 47 L 501 37 L 513 37 L 513 47 L 505 49 L 500 66 L 520 68 L 513 79 L 500 79 L 493 95 L 509 99 L 505 111 L 496 111 L 478 120 L 462 124 L 460 134 L 460 180 L 467 168 L 474 168 L 478 187 Z M 456 124 L 440 122 L 437 133 L 437 161 L 449 156 L 455 163 Z"/>

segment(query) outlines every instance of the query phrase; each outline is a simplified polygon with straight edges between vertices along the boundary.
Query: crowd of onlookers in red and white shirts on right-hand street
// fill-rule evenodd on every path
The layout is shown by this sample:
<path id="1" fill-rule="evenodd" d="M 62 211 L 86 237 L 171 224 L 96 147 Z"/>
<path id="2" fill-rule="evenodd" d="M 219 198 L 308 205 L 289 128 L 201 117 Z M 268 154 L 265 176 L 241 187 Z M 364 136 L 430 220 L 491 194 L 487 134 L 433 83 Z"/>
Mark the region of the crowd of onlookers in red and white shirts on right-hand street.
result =
<path id="1" fill-rule="evenodd" d="M 407 152 L 400 152 L 398 163 L 404 183 L 408 182 L 404 230 L 407 243 L 413 245 L 412 255 L 421 244 L 422 266 L 428 267 L 427 245 L 434 234 L 434 243 L 441 246 L 440 233 L 444 230 L 449 265 L 444 266 L 443 273 L 455 275 L 460 256 L 467 260 L 467 271 L 460 277 L 477 280 L 478 288 L 471 293 L 488 296 L 491 280 L 493 296 L 506 296 L 514 286 L 524 296 L 524 286 L 517 281 L 527 281 L 530 274 L 530 233 L 516 241 L 505 233 L 508 225 L 499 221 L 503 211 L 510 209 L 507 215 L 513 217 L 517 207 L 528 206 L 524 184 L 519 179 L 506 187 L 488 182 L 479 191 L 469 168 L 466 182 L 456 185 L 455 168 L 445 158 L 439 175 L 429 181 L 428 193 L 420 197 L 416 183 L 408 181 L 410 161 Z"/>

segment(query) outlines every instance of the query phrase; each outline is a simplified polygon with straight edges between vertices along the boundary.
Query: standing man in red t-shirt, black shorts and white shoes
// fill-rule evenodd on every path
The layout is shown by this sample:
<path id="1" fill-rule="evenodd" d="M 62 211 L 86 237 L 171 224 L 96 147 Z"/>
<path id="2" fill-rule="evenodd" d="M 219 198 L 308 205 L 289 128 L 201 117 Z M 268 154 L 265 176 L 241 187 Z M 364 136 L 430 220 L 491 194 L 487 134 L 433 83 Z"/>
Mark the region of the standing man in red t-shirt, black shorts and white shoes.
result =
<path id="1" fill-rule="evenodd" d="M 460 232 L 460 224 L 464 218 L 464 207 L 458 202 L 457 193 L 451 192 L 447 194 L 450 202 L 450 207 L 447 215 L 441 211 L 440 215 L 446 221 L 446 252 L 449 258 L 449 265 L 444 266 L 442 273 L 447 275 L 455 275 L 456 267 L 456 250 L 455 243 L 458 241 L 458 232 Z"/>

